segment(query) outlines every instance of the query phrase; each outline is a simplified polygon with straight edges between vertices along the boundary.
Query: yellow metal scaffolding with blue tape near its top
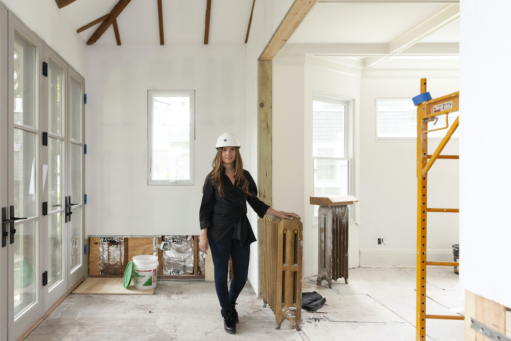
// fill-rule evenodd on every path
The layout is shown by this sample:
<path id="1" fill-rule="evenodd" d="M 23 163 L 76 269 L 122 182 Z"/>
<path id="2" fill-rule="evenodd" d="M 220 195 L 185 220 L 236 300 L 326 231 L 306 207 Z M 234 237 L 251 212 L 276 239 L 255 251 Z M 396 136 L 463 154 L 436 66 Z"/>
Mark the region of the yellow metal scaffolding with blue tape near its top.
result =
<path id="1" fill-rule="evenodd" d="M 422 101 L 424 100 L 424 101 Z M 427 212 L 459 212 L 458 209 L 428 208 L 428 171 L 439 158 L 457 159 L 458 155 L 440 155 L 452 134 L 458 127 L 458 118 L 449 127 L 447 121 L 451 112 L 459 109 L 459 92 L 447 96 L 431 99 L 426 92 L 426 78 L 421 79 L 421 95 L 413 99 L 417 105 L 417 314 L 416 339 L 426 339 L 426 319 L 464 320 L 461 315 L 428 315 L 426 314 L 426 266 L 459 266 L 458 262 L 429 262 L 426 259 L 427 251 Z M 422 101 L 422 103 L 416 103 Z M 437 120 L 439 116 L 446 116 L 446 126 L 439 129 L 448 129 L 433 154 L 428 154 L 428 122 Z M 429 159 L 429 161 L 428 161 Z"/>

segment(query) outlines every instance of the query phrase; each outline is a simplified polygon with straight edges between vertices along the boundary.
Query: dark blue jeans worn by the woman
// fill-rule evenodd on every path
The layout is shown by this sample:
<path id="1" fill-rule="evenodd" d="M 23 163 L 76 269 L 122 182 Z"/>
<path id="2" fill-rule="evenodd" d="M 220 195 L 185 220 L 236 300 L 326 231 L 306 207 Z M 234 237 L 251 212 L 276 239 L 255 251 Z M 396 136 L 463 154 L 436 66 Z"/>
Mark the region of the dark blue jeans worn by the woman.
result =
<path id="1" fill-rule="evenodd" d="M 207 233 L 213 265 L 215 266 L 215 288 L 222 310 L 230 309 L 230 302 L 235 302 L 238 299 L 248 276 L 250 246 L 241 246 L 239 241 L 233 239 L 233 234 L 234 229 L 231 229 L 225 237 L 215 242 L 210 233 Z M 230 281 L 230 289 L 227 290 L 229 256 L 233 260 L 234 277 Z"/>

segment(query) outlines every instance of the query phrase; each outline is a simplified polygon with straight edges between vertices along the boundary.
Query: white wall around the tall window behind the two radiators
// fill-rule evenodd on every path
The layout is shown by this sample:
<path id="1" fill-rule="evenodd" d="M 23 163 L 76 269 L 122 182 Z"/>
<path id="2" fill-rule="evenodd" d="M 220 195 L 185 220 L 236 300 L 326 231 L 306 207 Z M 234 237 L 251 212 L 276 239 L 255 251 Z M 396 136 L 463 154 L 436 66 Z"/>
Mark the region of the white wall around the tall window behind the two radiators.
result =
<path id="1" fill-rule="evenodd" d="M 305 277 L 317 275 L 318 263 L 318 231 L 317 226 L 312 226 L 313 209 L 309 203 L 313 196 L 314 178 L 313 92 L 353 99 L 357 120 L 360 71 L 309 56 L 277 56 L 273 62 L 273 203 L 278 210 L 293 211 L 301 217 L 304 224 Z M 349 236 L 349 265 L 356 267 L 356 223 L 350 224 Z"/>

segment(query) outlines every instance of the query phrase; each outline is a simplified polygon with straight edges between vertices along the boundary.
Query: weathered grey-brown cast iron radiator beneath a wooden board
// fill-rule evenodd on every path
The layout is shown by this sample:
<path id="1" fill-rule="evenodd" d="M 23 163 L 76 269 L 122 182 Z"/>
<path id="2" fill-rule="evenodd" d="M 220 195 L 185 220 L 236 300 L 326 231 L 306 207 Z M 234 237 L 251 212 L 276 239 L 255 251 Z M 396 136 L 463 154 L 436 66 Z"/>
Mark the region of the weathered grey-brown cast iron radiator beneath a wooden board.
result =
<path id="1" fill-rule="evenodd" d="M 318 211 L 318 277 L 332 287 L 332 280 L 348 282 L 348 207 L 320 206 Z"/>

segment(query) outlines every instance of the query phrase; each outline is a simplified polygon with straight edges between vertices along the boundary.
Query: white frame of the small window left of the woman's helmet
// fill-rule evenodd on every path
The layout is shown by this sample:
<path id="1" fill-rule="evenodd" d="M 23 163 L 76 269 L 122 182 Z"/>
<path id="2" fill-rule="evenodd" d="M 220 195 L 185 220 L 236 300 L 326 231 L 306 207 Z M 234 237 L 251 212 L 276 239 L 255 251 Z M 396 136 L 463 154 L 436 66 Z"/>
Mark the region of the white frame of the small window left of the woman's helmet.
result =
<path id="1" fill-rule="evenodd" d="M 151 173 L 152 152 L 153 152 L 153 98 L 155 96 L 188 96 L 190 98 L 190 179 L 169 179 L 153 180 Z M 147 91 L 147 145 L 148 145 L 148 163 L 147 163 L 147 184 L 148 185 L 170 185 L 170 186 L 193 186 L 195 185 L 195 90 L 148 90 Z"/>

